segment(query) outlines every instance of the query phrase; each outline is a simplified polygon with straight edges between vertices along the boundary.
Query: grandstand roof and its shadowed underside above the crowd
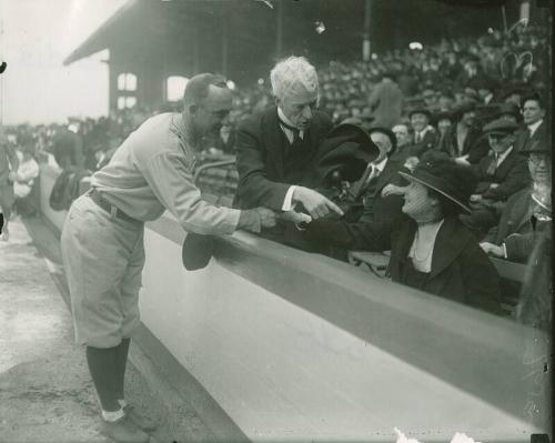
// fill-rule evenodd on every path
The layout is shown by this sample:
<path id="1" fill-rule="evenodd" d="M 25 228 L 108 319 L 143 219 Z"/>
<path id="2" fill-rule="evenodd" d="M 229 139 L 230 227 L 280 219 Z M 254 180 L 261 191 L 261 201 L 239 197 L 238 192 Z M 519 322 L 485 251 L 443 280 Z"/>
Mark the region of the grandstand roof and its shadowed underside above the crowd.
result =
<path id="1" fill-rule="evenodd" d="M 417 4 L 415 4 L 417 3 Z M 360 58 L 363 0 L 130 0 L 80 44 L 64 64 L 103 49 L 120 49 L 119 58 L 165 60 L 191 64 L 194 41 L 201 70 L 220 70 L 228 30 L 228 75 L 268 73 L 276 54 L 276 16 L 283 8 L 283 53 L 305 54 L 316 64 Z M 482 33 L 500 22 L 498 10 L 452 7 L 434 0 L 372 1 L 373 51 L 400 48 L 408 41 L 436 41 L 438 36 Z M 322 21 L 324 32 L 316 32 Z M 418 38 L 415 38 L 418 36 Z M 260 69 L 258 69 L 260 68 Z"/>

